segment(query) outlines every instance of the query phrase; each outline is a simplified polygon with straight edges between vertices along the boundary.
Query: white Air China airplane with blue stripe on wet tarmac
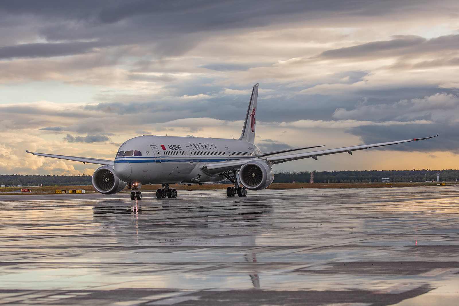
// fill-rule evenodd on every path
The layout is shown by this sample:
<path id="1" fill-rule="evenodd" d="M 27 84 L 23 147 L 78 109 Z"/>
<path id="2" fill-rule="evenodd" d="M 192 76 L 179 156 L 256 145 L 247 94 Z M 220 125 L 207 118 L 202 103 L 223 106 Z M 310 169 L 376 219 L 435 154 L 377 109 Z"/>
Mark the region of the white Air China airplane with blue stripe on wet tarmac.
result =
<path id="1" fill-rule="evenodd" d="M 105 195 L 118 193 L 126 187 L 131 192 L 131 200 L 140 200 L 142 184 L 162 184 L 157 189 L 158 199 L 177 198 L 177 190 L 169 184 L 217 183 L 228 179 L 233 185 L 226 189 L 228 197 L 236 194 L 247 195 L 247 189 L 261 190 L 274 181 L 274 164 L 295 161 L 303 158 L 318 159 L 318 156 L 344 153 L 385 145 L 395 145 L 430 139 L 414 138 L 371 145 L 355 145 L 329 150 L 314 150 L 298 153 L 295 151 L 319 148 L 323 145 L 295 148 L 262 153 L 255 143 L 258 84 L 250 96 L 246 118 L 239 139 L 177 137 L 144 135 L 124 142 L 118 149 L 114 160 L 65 156 L 46 153 L 27 153 L 104 165 L 92 175 L 94 188 Z"/>

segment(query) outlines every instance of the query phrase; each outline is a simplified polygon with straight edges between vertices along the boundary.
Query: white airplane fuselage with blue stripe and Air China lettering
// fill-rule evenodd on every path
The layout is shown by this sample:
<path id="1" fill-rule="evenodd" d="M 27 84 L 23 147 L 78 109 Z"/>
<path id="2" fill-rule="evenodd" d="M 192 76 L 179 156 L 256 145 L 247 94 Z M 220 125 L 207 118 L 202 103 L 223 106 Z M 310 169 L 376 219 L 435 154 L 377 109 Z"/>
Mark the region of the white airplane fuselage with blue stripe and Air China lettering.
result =
<path id="1" fill-rule="evenodd" d="M 253 159 L 260 153 L 256 145 L 239 139 L 139 136 L 120 146 L 113 169 L 130 184 L 218 182 L 224 177 L 204 172 L 203 163 Z"/>

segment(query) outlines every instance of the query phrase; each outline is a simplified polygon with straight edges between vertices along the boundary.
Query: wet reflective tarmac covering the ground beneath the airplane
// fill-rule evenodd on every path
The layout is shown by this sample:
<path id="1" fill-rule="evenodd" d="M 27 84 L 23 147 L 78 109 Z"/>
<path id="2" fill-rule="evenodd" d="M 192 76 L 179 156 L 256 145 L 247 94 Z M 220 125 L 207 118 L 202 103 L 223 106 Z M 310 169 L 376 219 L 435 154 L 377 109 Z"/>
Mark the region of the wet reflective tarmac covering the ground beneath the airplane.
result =
<path id="1" fill-rule="evenodd" d="M 2 195 L 2 305 L 458 305 L 459 188 Z"/>

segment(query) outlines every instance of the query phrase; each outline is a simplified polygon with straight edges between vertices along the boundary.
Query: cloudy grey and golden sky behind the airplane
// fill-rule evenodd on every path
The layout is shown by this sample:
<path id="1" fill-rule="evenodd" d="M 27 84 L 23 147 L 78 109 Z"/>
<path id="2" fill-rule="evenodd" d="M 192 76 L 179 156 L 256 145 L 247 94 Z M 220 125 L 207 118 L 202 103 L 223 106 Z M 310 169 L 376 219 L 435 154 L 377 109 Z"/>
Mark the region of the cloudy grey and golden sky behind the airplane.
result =
<path id="1" fill-rule="evenodd" d="M 145 134 L 263 151 L 435 139 L 275 171 L 459 168 L 459 2 L 0 1 L 0 174 L 92 174 Z"/>

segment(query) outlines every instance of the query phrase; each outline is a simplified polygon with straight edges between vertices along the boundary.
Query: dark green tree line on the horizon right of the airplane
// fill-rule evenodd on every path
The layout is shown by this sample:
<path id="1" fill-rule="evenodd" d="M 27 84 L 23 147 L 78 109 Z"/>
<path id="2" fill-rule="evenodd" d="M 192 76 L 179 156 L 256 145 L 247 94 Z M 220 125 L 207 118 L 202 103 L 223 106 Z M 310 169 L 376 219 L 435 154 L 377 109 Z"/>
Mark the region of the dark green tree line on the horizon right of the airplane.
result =
<path id="1" fill-rule="evenodd" d="M 437 180 L 451 182 L 459 179 L 459 170 L 363 170 L 363 171 L 313 171 L 314 183 L 369 183 L 389 178 L 391 182 L 425 182 Z M 309 183 L 311 172 L 275 173 L 274 183 Z"/>

